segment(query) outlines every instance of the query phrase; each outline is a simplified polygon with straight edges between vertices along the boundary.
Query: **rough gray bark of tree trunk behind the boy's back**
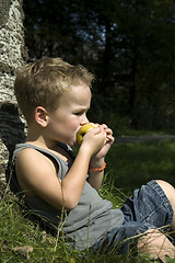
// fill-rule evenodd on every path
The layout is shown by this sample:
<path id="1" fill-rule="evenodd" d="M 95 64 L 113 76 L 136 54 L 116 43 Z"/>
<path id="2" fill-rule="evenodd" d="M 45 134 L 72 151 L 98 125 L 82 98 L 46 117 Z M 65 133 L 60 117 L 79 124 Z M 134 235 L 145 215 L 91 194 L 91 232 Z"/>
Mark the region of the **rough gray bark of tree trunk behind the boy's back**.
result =
<path id="1" fill-rule="evenodd" d="M 0 0 L 0 198 L 8 190 L 9 161 L 16 142 L 24 140 L 25 121 L 19 115 L 13 84 L 27 59 L 22 0 Z"/>

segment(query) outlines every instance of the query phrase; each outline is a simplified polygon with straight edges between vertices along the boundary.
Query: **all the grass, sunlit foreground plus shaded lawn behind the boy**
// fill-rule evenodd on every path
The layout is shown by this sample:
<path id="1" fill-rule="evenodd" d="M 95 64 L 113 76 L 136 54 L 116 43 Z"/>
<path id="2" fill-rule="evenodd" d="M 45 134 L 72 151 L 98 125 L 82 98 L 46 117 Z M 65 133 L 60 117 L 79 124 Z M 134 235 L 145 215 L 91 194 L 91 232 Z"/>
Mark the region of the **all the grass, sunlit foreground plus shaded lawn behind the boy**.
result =
<path id="1" fill-rule="evenodd" d="M 175 140 L 114 145 L 106 158 L 105 180 L 100 194 L 120 206 L 132 190 L 152 179 L 163 179 L 175 185 Z M 132 258 L 110 254 L 92 254 L 70 250 L 57 242 L 21 213 L 13 195 L 0 203 L 0 262 L 1 263 L 109 263 L 151 262 L 139 255 Z M 15 247 L 32 245 L 30 259 L 13 251 Z M 155 261 L 156 262 L 156 261 Z M 171 262 L 171 261 L 170 261 Z M 173 261 L 172 261 L 173 262 Z"/>

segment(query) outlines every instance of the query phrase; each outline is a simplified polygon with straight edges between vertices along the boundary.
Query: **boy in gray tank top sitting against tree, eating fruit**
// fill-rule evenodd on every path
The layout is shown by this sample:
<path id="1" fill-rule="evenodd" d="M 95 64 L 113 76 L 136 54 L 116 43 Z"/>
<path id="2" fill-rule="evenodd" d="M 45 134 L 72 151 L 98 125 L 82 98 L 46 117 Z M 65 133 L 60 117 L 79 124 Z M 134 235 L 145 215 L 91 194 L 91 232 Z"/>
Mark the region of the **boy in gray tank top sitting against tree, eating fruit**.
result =
<path id="1" fill-rule="evenodd" d="M 25 144 L 18 145 L 13 155 L 12 184 L 50 230 L 63 229 L 75 249 L 116 247 L 126 253 L 135 243 L 165 262 L 166 254 L 174 258 L 175 249 L 158 228 L 175 229 L 174 187 L 151 181 L 135 191 L 121 209 L 112 209 L 97 191 L 113 132 L 105 124 L 91 129 L 77 157 L 72 153 L 78 130 L 89 123 L 93 79 L 82 66 L 60 58 L 42 58 L 24 66 L 14 92 L 28 130 Z M 139 239 L 131 239 L 133 236 Z"/>

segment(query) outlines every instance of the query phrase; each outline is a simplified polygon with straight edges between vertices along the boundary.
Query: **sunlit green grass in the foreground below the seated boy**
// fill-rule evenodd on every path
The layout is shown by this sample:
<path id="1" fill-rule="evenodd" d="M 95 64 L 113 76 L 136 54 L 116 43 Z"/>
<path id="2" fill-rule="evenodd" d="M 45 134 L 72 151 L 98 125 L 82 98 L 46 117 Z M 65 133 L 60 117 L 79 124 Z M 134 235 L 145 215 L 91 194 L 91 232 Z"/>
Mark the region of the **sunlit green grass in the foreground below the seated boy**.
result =
<path id="1" fill-rule="evenodd" d="M 105 190 L 106 191 L 106 190 Z M 104 193 L 103 193 L 104 194 Z M 105 192 L 107 195 L 107 191 Z M 105 196 L 104 194 L 104 196 Z M 114 198 L 110 193 L 108 198 Z M 9 197 L 8 197 L 9 199 Z M 132 263 L 150 262 L 147 256 L 138 255 L 130 252 L 129 255 L 119 255 L 116 251 L 109 254 L 92 253 L 88 251 L 79 252 L 67 247 L 59 239 L 51 237 L 43 231 L 38 225 L 22 215 L 20 206 L 15 198 L 0 203 L 0 262 L 1 263 Z M 14 248 L 31 245 L 33 251 L 26 259 L 15 251 Z M 66 248 L 66 249 L 65 249 Z"/>

